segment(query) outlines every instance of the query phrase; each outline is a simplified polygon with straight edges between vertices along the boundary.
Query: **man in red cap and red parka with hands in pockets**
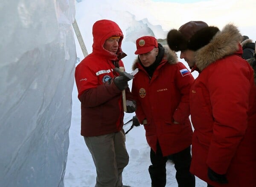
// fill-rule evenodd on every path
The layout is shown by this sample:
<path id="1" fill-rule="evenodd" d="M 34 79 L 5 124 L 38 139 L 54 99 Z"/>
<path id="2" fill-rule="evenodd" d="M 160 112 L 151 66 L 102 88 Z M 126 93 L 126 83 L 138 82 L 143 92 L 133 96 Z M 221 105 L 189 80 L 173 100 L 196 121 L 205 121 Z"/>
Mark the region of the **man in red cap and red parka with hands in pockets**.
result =
<path id="1" fill-rule="evenodd" d="M 172 156 L 179 187 L 195 187 L 189 172 L 192 126 L 189 121 L 189 90 L 193 76 L 168 46 L 163 47 L 151 36 L 136 41 L 138 58 L 133 70 L 139 69 L 132 82 L 137 101 L 136 115 L 144 125 L 151 147 L 148 168 L 151 187 L 166 185 L 166 161 Z"/>

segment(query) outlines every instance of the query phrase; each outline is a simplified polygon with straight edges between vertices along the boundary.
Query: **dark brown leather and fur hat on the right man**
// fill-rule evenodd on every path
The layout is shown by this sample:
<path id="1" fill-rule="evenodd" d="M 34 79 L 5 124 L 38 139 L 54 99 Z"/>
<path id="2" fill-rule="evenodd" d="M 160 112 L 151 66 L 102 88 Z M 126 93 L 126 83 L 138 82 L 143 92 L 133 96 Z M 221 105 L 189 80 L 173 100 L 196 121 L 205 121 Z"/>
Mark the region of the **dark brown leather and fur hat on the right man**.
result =
<path id="1" fill-rule="evenodd" d="M 181 26 L 179 30 L 170 30 L 167 34 L 167 43 L 174 51 L 186 49 L 196 51 L 207 45 L 218 31 L 217 27 L 209 27 L 205 22 L 190 21 Z"/>

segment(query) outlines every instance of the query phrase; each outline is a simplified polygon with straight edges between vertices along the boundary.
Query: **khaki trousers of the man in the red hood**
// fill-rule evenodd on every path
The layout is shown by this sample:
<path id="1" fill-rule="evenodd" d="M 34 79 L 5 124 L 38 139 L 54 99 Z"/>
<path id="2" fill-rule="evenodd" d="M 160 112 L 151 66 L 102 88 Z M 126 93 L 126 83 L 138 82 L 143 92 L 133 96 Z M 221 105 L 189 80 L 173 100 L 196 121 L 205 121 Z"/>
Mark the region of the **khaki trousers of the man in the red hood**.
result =
<path id="1" fill-rule="evenodd" d="M 122 171 L 129 161 L 124 130 L 102 136 L 84 136 L 84 141 L 96 167 L 95 187 L 122 187 Z"/>

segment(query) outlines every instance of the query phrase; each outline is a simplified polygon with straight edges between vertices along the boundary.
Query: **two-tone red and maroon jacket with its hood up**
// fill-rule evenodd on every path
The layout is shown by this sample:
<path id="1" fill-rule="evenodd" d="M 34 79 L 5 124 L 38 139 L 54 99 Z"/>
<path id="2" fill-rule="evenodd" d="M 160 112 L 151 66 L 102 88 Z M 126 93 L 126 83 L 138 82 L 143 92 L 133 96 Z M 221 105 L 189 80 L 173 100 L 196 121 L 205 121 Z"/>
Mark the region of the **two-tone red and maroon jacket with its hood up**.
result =
<path id="1" fill-rule="evenodd" d="M 113 71 L 113 62 L 119 63 L 120 67 L 124 65 L 116 54 L 103 48 L 105 41 L 112 36 L 120 37 L 117 54 L 122 54 L 123 34 L 119 26 L 110 20 L 96 22 L 93 25 L 93 52 L 76 67 L 82 136 L 118 132 L 123 126 L 122 91 L 108 80 L 119 75 Z M 131 100 L 129 88 L 126 89 L 126 99 Z"/>

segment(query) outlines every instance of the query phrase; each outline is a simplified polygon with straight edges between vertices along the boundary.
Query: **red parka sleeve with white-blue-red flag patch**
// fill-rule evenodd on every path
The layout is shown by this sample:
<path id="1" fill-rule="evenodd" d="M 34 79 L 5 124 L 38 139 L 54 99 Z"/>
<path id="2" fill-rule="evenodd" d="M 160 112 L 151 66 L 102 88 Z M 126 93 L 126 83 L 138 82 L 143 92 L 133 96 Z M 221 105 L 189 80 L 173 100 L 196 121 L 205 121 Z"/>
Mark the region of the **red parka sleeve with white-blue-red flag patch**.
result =
<path id="1" fill-rule="evenodd" d="M 175 83 L 177 88 L 180 91 L 181 99 L 180 103 L 177 106 L 173 118 L 176 122 L 184 123 L 184 120 L 187 119 L 190 115 L 189 110 L 189 94 L 190 87 L 194 82 L 194 77 L 187 70 L 186 66 L 181 62 L 177 64 L 177 71 L 175 76 Z"/>

